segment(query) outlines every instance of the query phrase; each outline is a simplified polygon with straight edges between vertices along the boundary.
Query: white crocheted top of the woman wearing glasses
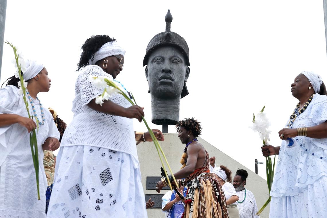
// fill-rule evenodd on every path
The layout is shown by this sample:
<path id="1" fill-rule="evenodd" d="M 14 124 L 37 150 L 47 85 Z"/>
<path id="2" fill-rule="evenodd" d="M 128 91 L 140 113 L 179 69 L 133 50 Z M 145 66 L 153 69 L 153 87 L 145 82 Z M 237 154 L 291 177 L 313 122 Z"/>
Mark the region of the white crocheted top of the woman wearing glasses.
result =
<path id="1" fill-rule="evenodd" d="M 73 121 L 67 126 L 60 146 L 89 145 L 125 152 L 133 157 L 133 165 L 138 168 L 133 119 L 98 112 L 87 105 L 104 90 L 92 84 L 90 75 L 105 76 L 113 81 L 112 76 L 97 65 L 86 66 L 81 71 L 75 83 Z M 119 82 L 114 82 L 126 92 Z M 131 106 L 121 94 L 113 95 L 109 100 L 124 108 Z"/>

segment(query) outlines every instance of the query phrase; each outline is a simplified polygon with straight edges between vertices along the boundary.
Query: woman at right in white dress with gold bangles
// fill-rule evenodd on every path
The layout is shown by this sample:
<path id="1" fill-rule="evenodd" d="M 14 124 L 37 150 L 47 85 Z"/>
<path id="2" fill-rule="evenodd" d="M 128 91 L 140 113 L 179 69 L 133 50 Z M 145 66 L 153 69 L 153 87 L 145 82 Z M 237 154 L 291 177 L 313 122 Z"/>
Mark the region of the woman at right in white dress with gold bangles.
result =
<path id="1" fill-rule="evenodd" d="M 291 84 L 300 102 L 279 131 L 281 146 L 263 146 L 278 154 L 269 217 L 327 217 L 327 96 L 319 75 L 302 72 Z"/>

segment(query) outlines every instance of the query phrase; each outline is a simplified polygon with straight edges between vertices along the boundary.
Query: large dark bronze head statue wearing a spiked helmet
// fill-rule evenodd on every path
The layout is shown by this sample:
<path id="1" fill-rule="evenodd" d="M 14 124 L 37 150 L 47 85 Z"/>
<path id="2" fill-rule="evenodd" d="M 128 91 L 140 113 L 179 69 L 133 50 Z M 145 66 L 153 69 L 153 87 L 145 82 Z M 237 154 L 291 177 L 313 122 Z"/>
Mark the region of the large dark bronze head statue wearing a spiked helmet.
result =
<path id="1" fill-rule="evenodd" d="M 168 10 L 166 31 L 151 39 L 143 60 L 151 94 L 152 123 L 157 125 L 175 125 L 179 121 L 180 100 L 188 94 L 189 49 L 180 35 L 170 31 L 172 20 Z"/>

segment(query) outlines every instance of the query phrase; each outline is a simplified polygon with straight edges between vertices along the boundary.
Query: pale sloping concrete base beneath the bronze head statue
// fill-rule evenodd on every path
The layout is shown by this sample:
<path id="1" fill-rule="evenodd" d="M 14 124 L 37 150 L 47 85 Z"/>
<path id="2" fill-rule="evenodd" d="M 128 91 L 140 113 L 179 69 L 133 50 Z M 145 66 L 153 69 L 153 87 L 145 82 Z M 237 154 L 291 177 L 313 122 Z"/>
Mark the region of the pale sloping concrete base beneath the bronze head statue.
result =
<path id="1" fill-rule="evenodd" d="M 185 144 L 181 144 L 180 139 L 177 137 L 177 134 L 164 134 L 164 142 L 160 142 L 161 147 L 166 155 L 168 163 L 173 172 L 177 172 L 181 168 L 181 155 L 183 153 Z M 235 174 L 237 169 L 245 169 L 248 171 L 249 176 L 247 179 L 246 189 L 249 189 L 255 196 L 258 208 L 260 209 L 261 206 L 266 202 L 269 197 L 268 188 L 267 188 L 267 181 L 254 172 L 250 171 L 248 168 L 237 162 L 236 160 L 232 159 L 231 157 L 227 156 L 213 145 L 207 143 L 201 138 L 198 138 L 199 143 L 201 143 L 209 156 L 216 157 L 216 165 L 225 165 L 231 171 L 232 175 Z M 232 145 L 226 145 L 232 146 Z M 235 151 L 236 152 L 236 151 Z M 239 151 L 241 152 L 241 151 Z M 141 166 L 141 173 L 142 173 L 142 185 L 145 194 L 157 194 L 155 190 L 146 190 L 146 176 L 160 176 L 161 171 L 161 162 L 158 157 L 158 152 L 152 142 L 140 143 L 137 145 L 137 153 L 139 156 L 140 166 Z M 244 156 L 244 158 L 247 158 Z M 167 170 L 168 171 L 168 170 Z M 167 190 L 163 190 L 161 194 L 166 193 Z M 149 218 L 154 217 L 165 217 L 164 213 L 161 209 L 147 209 L 147 214 Z M 261 218 L 268 218 L 269 217 L 269 205 L 266 209 L 261 213 Z"/>

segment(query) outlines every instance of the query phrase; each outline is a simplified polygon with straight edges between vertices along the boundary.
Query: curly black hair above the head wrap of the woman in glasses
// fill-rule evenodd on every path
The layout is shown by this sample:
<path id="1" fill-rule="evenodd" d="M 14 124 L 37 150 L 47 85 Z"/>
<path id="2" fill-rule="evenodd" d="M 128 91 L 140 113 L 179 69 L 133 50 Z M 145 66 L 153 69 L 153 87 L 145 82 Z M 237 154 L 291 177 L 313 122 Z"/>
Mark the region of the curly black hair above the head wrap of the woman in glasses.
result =
<path id="1" fill-rule="evenodd" d="M 84 44 L 82 45 L 82 53 L 79 59 L 79 63 L 77 64 L 79 71 L 81 68 L 89 65 L 89 60 L 94 59 L 95 52 L 99 51 L 102 45 L 107 42 L 116 41 L 115 39 L 110 38 L 107 35 L 97 35 L 92 36 L 91 38 L 87 39 Z"/>

